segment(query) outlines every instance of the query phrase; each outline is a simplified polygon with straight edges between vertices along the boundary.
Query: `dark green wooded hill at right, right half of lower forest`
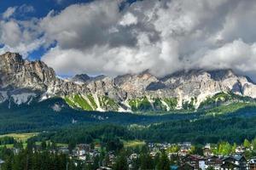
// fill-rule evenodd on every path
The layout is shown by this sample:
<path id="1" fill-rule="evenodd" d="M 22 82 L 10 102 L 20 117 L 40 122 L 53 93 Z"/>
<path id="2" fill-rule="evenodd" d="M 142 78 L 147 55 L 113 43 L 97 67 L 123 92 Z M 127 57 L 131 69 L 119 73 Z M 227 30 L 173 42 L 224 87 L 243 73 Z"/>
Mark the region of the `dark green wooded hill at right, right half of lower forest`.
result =
<path id="1" fill-rule="evenodd" d="M 216 144 L 221 140 L 241 144 L 256 136 L 256 117 L 215 117 L 200 120 L 164 122 L 132 130 L 137 139 L 151 142 L 183 142 Z M 234 133 L 236 132 L 236 133 Z"/>

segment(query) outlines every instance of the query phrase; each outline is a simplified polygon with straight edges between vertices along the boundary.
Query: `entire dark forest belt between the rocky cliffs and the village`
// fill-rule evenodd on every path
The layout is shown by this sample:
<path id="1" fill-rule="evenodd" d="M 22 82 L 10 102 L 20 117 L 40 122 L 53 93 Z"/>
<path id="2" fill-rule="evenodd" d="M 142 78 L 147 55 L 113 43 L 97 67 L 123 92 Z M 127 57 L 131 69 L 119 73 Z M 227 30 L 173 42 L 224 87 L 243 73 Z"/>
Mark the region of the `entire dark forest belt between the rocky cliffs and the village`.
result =
<path id="1" fill-rule="evenodd" d="M 170 143 L 191 141 L 205 144 L 221 140 L 241 143 L 256 136 L 255 106 L 217 115 L 215 113 L 222 108 L 211 112 L 146 116 L 73 110 L 62 99 L 49 99 L 29 106 L 11 105 L 10 109 L 7 105 L 0 105 L 0 133 L 39 132 L 40 138 L 67 144 L 88 143 L 107 137 Z M 61 105 L 61 111 L 53 110 L 53 105 Z"/>

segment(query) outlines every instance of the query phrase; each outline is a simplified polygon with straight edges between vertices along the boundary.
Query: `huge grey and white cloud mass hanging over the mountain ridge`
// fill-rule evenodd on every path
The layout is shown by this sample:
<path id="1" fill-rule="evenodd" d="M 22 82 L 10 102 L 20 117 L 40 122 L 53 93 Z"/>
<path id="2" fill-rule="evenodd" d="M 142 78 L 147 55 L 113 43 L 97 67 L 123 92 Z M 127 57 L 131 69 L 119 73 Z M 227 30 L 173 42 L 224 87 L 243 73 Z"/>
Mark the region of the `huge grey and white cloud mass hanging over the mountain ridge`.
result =
<path id="1" fill-rule="evenodd" d="M 31 20 L 15 19 L 9 8 L 0 21 L 0 53 L 28 56 L 44 47 L 42 60 L 62 75 L 231 68 L 256 79 L 255 1 L 120 3 L 73 4 Z"/>

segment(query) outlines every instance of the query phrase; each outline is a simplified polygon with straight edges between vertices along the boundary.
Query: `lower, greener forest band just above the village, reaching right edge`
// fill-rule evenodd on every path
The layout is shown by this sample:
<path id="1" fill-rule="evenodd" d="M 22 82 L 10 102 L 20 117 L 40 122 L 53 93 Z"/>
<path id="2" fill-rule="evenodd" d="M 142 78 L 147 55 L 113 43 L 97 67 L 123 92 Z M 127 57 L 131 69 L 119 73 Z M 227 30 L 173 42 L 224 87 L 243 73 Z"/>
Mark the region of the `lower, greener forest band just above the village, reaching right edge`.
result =
<path id="1" fill-rule="evenodd" d="M 51 133 L 41 133 L 38 141 L 54 140 L 58 143 L 88 143 L 96 139 L 141 139 L 146 142 L 178 143 L 189 141 L 194 144 L 217 144 L 228 141 L 241 144 L 244 139 L 256 136 L 256 117 L 208 117 L 199 120 L 162 122 L 150 126 L 119 126 L 80 124 L 62 127 Z M 236 132 L 236 133 L 234 133 Z"/>

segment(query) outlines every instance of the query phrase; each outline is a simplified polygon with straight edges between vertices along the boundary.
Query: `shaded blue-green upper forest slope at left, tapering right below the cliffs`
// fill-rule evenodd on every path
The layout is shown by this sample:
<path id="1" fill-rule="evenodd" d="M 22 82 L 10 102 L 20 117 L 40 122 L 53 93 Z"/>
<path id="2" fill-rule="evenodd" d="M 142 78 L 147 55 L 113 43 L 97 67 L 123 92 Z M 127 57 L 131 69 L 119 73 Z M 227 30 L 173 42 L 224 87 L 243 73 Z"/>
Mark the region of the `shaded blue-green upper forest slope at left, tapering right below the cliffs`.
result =
<path id="1" fill-rule="evenodd" d="M 54 110 L 58 105 L 59 111 Z M 31 105 L 0 105 L 0 133 L 34 132 L 55 130 L 72 124 L 150 124 L 167 120 L 188 119 L 199 116 L 191 114 L 168 114 L 164 116 L 144 116 L 119 112 L 79 111 L 70 108 L 62 99 L 48 99 Z"/>

